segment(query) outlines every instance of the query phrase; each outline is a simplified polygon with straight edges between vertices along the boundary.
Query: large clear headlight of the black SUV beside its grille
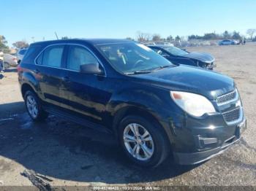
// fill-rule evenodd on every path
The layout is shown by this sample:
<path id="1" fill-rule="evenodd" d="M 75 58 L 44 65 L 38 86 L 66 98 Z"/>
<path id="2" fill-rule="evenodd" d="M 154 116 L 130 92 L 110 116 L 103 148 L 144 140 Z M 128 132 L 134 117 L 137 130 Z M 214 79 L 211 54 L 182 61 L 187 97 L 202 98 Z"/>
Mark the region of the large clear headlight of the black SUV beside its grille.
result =
<path id="1" fill-rule="evenodd" d="M 195 117 L 200 117 L 205 113 L 216 112 L 211 102 L 203 95 L 170 91 L 170 96 L 181 109 Z"/>

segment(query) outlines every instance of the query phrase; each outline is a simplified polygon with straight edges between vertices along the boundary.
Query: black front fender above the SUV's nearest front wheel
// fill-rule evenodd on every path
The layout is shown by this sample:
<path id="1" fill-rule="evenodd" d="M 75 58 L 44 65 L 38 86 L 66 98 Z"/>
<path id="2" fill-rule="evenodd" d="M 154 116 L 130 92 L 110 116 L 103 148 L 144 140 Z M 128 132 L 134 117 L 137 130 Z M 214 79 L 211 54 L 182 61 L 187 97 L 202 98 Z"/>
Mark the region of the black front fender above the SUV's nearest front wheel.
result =
<path id="1" fill-rule="evenodd" d="M 162 92 L 161 92 L 162 91 Z M 167 134 L 170 142 L 173 142 L 173 130 L 169 121 L 164 121 L 170 114 L 170 94 L 152 86 L 129 88 L 113 94 L 107 106 L 113 124 L 113 131 L 116 133 L 117 125 L 129 112 L 130 114 L 141 114 L 154 122 L 158 122 Z"/>

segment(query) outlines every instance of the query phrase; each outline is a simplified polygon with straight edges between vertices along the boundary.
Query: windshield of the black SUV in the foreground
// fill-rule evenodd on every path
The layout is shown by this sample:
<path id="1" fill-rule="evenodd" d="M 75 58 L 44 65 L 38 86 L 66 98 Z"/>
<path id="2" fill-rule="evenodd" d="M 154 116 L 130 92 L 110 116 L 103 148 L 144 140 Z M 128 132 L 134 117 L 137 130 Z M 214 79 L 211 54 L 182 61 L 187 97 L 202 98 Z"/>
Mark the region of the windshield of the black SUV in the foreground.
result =
<path id="1" fill-rule="evenodd" d="M 162 66 L 174 66 L 170 61 L 143 44 L 99 44 L 97 47 L 113 68 L 122 73 L 150 72 Z"/>

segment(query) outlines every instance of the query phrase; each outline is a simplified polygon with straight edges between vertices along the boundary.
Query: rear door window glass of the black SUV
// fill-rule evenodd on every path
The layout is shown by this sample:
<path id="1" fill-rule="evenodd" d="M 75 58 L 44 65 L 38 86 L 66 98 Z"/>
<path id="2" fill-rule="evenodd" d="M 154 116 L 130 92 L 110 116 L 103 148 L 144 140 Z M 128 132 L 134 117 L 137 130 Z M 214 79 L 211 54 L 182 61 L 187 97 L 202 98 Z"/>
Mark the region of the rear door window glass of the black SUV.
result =
<path id="1" fill-rule="evenodd" d="M 60 68 L 63 50 L 64 45 L 55 45 L 46 48 L 37 58 L 37 64 Z"/>

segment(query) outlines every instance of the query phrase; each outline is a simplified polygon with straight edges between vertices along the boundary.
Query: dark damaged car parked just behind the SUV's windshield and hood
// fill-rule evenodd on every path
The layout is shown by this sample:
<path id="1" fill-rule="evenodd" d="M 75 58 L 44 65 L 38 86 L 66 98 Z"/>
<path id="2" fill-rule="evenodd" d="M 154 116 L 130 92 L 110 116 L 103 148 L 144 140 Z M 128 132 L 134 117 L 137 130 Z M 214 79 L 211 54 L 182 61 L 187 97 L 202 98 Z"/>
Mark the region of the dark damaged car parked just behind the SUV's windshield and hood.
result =
<path id="1" fill-rule="evenodd" d="M 213 68 L 216 67 L 216 65 L 214 65 L 215 58 L 205 52 L 187 52 L 187 50 L 181 50 L 178 47 L 166 45 L 148 47 L 174 64 L 198 66 L 209 70 L 213 70 Z"/>

